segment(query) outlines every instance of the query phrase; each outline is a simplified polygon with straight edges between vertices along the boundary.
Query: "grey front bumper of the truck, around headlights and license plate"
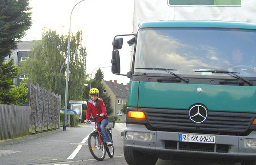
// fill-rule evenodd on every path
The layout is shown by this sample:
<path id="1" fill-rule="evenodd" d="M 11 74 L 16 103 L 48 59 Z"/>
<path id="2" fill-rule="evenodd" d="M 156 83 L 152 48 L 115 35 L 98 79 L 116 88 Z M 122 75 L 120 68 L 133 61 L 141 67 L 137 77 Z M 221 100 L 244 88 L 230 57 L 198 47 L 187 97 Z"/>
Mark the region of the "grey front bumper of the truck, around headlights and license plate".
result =
<path id="1" fill-rule="evenodd" d="M 127 132 L 150 133 L 151 139 L 138 140 L 127 138 Z M 124 147 L 158 155 L 159 158 L 232 158 L 255 159 L 256 148 L 245 147 L 245 139 L 256 139 L 256 132 L 248 136 L 216 136 L 215 144 L 179 142 L 179 134 L 185 132 L 150 131 L 145 125 L 127 124 L 124 129 Z"/>

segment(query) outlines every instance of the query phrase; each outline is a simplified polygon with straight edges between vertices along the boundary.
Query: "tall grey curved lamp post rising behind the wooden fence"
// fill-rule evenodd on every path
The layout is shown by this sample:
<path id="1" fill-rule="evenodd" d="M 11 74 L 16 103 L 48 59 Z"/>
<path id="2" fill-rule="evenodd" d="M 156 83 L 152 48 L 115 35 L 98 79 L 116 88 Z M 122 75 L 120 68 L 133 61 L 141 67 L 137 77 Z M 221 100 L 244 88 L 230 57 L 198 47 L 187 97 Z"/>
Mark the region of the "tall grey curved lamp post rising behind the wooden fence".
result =
<path id="1" fill-rule="evenodd" d="M 84 0 L 82 0 L 84 1 Z M 79 4 L 79 1 L 77 4 Z M 76 4 L 76 5 L 77 5 Z M 67 127 L 67 100 L 68 100 L 68 83 L 69 83 L 69 49 L 70 49 L 70 27 L 71 27 L 71 16 L 72 16 L 72 12 L 74 10 L 74 8 L 76 7 L 76 5 L 73 7 L 71 13 L 70 13 L 70 20 L 69 20 L 69 38 L 68 38 L 68 57 L 67 57 L 67 75 L 66 75 L 66 88 L 65 88 L 65 103 L 64 103 L 64 124 L 63 124 L 63 131 L 66 131 L 66 127 Z"/>

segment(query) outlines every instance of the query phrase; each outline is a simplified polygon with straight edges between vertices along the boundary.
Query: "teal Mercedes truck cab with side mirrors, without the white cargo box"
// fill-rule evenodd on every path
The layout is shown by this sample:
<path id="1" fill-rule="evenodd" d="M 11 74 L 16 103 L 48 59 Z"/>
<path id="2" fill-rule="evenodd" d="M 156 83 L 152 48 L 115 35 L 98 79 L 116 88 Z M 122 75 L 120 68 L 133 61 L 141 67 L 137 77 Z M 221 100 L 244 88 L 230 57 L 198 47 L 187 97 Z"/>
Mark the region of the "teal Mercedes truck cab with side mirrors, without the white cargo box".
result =
<path id="1" fill-rule="evenodd" d="M 131 69 L 120 73 L 123 38 Z M 207 159 L 255 164 L 256 24 L 155 21 L 114 37 L 112 73 L 130 78 L 128 164 Z"/>

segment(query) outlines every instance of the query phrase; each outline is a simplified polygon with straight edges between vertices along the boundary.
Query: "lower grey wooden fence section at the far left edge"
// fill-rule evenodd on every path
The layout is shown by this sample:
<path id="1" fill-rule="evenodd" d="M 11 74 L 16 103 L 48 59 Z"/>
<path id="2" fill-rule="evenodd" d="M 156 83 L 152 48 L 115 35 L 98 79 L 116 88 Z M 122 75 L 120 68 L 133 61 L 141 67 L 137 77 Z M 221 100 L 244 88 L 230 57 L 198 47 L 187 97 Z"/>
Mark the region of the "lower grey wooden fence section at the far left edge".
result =
<path id="1" fill-rule="evenodd" d="M 30 107 L 0 105 L 0 141 L 29 135 Z"/>

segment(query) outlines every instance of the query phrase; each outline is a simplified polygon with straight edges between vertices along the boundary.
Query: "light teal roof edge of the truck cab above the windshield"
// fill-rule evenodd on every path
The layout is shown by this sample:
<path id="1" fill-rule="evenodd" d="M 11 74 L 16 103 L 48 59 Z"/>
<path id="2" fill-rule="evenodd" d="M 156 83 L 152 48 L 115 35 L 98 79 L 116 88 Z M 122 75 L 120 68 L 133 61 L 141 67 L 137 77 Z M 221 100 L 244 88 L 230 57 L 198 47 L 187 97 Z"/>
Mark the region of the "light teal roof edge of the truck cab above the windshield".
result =
<path id="1" fill-rule="evenodd" d="M 140 25 L 141 28 L 151 27 L 194 27 L 194 28 L 238 28 L 238 29 L 256 29 L 256 23 L 246 22 L 225 22 L 225 21 L 155 21 L 145 22 Z"/>

